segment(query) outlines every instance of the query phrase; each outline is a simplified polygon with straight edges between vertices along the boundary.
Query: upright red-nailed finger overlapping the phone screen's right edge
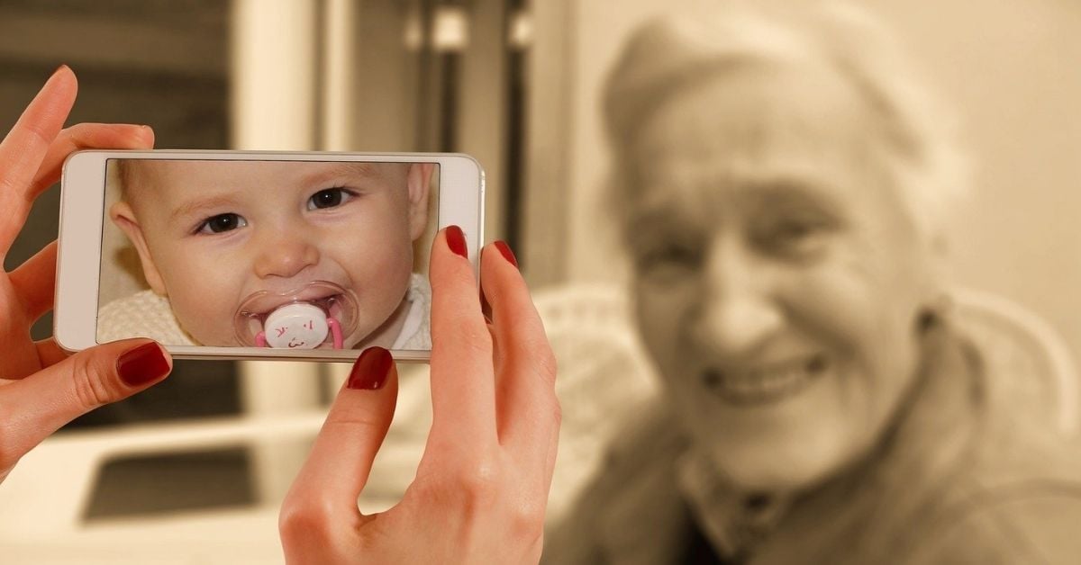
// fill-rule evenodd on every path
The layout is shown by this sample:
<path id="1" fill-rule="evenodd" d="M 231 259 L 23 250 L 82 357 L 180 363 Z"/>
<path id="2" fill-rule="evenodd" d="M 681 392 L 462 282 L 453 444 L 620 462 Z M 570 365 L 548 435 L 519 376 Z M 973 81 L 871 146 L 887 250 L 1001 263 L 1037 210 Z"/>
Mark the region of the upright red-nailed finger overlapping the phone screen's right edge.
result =
<path id="1" fill-rule="evenodd" d="M 497 436 L 492 336 L 466 253 L 456 226 L 440 231 L 431 248 L 429 445 L 448 442 L 472 450 L 478 441 L 494 444 Z"/>

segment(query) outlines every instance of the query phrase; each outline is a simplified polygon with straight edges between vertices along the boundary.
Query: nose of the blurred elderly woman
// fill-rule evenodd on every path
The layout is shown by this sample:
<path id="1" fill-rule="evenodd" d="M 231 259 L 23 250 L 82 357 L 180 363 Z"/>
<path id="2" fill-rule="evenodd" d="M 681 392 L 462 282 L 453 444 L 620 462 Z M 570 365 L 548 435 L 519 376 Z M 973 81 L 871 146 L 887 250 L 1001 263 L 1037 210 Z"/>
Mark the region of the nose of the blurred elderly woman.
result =
<path id="1" fill-rule="evenodd" d="M 738 245 L 712 253 L 706 264 L 692 339 L 725 358 L 752 355 L 785 323 L 768 261 Z"/>

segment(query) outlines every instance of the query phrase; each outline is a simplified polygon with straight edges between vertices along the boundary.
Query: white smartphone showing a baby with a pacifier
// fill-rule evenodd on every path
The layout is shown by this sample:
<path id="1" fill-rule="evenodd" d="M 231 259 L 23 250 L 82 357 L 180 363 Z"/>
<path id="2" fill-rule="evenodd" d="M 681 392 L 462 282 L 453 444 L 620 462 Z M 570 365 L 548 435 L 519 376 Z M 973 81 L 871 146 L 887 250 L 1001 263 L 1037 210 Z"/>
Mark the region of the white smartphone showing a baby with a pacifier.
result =
<path id="1" fill-rule="evenodd" d="M 455 225 L 477 265 L 469 156 L 80 151 L 64 164 L 54 336 L 149 337 L 181 359 L 430 358 L 428 256 Z"/>

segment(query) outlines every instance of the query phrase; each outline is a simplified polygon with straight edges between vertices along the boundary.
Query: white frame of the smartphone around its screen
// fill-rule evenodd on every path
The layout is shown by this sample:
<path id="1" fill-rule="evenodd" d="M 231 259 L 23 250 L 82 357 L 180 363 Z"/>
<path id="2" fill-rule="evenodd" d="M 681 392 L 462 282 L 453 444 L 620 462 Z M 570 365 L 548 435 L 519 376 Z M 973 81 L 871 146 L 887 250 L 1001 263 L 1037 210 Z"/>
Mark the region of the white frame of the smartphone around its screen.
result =
<path id="1" fill-rule="evenodd" d="M 437 224 L 457 225 L 466 237 L 469 260 L 478 280 L 480 247 L 484 241 L 484 171 L 463 153 L 359 153 L 326 151 L 149 151 L 84 150 L 70 154 L 61 177 L 59 237 L 56 255 L 56 301 L 53 336 L 68 351 L 97 345 L 98 290 L 109 159 L 200 161 L 344 161 L 429 162 L 439 164 Z M 255 347 L 170 346 L 177 359 L 352 361 L 360 350 L 309 349 L 303 352 Z M 427 350 L 393 350 L 398 361 L 424 362 Z"/>

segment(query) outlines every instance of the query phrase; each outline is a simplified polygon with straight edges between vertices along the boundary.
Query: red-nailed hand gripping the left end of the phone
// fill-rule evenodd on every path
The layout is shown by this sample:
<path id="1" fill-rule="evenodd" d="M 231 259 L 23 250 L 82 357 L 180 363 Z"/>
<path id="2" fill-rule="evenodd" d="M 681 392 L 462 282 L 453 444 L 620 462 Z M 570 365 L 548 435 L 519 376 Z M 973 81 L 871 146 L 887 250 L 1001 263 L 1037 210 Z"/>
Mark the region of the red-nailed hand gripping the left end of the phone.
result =
<path id="1" fill-rule="evenodd" d="M 139 125 L 81 123 L 62 130 L 77 83 L 61 67 L 0 144 L 0 263 L 23 229 L 34 200 L 55 184 L 65 158 L 85 148 L 148 149 Z M 34 446 L 97 406 L 125 399 L 172 369 L 149 339 L 126 339 L 68 357 L 30 326 L 53 309 L 56 242 L 17 269 L 0 270 L 0 482 Z"/>

